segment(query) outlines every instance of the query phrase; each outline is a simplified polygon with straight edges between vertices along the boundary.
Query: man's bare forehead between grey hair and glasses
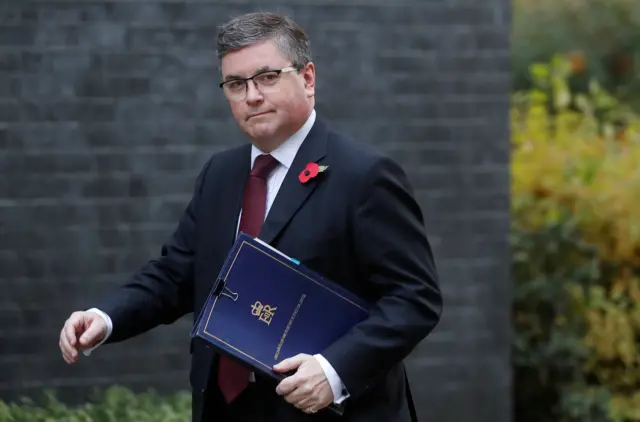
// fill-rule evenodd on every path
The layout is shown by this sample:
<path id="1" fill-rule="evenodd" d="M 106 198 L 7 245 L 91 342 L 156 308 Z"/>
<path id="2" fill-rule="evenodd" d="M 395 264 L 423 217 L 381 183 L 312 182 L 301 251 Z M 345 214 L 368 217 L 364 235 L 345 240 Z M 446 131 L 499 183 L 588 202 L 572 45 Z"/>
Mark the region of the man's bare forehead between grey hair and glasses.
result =
<path id="1" fill-rule="evenodd" d="M 272 41 L 263 41 L 240 50 L 232 51 L 220 62 L 222 77 L 248 77 L 260 69 L 279 69 L 287 66 L 288 61 L 282 56 Z"/>

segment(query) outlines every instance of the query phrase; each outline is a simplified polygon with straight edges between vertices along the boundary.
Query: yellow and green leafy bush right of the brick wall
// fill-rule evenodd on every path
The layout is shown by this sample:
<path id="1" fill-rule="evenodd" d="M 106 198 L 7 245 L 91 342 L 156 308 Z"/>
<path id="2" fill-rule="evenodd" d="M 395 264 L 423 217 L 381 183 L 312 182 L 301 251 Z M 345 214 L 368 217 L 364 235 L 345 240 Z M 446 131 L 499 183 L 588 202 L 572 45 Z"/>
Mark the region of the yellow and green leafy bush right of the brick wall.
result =
<path id="1" fill-rule="evenodd" d="M 561 58 L 532 70 L 511 115 L 516 421 L 637 422 L 640 118 L 571 92 Z"/>

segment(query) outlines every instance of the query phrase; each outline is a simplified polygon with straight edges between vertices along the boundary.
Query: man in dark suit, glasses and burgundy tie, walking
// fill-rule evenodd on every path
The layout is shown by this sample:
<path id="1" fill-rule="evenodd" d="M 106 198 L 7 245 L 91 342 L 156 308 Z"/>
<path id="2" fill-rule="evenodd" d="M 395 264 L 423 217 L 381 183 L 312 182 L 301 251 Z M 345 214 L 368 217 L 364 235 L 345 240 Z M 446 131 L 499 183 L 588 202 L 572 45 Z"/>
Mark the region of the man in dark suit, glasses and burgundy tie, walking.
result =
<path id="1" fill-rule="evenodd" d="M 321 353 L 281 362 L 274 369 L 289 374 L 280 383 L 193 340 L 193 421 L 415 420 L 403 359 L 438 323 L 442 298 L 403 170 L 316 116 L 309 42 L 290 19 L 233 19 L 220 28 L 218 54 L 221 88 L 251 143 L 206 162 L 157 259 L 69 317 L 64 359 L 197 316 L 244 231 L 362 296 L 370 316 Z M 308 163 L 323 171 L 306 172 Z M 332 402 L 345 406 L 342 418 L 325 409 Z"/>

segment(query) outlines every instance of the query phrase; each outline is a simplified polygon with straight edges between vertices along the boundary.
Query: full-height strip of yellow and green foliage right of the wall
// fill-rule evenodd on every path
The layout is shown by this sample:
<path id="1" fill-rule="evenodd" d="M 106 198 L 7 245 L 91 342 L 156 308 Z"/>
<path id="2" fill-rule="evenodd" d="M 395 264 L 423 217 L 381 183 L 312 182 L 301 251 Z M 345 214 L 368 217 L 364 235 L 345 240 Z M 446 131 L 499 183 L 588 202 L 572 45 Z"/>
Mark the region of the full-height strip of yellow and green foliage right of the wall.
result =
<path id="1" fill-rule="evenodd" d="M 517 421 L 640 420 L 640 2 L 515 0 Z"/>

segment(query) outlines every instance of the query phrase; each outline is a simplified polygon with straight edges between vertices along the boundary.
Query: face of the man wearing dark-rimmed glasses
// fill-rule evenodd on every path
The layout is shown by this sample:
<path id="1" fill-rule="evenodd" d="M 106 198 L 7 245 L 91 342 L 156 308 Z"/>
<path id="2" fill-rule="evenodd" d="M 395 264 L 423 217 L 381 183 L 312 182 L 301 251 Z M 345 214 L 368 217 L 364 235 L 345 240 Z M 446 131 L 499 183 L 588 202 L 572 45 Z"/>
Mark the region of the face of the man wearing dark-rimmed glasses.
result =
<path id="1" fill-rule="evenodd" d="M 272 41 L 264 41 L 224 56 L 222 78 L 248 78 L 291 65 Z M 229 104 L 240 128 L 262 149 L 273 149 L 304 124 L 313 108 L 314 95 L 315 69 L 309 63 L 300 72 L 281 73 L 269 88 L 261 90 L 247 81 L 246 97 L 229 99 Z"/>

